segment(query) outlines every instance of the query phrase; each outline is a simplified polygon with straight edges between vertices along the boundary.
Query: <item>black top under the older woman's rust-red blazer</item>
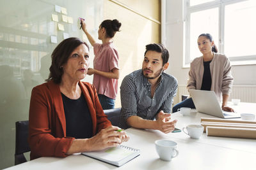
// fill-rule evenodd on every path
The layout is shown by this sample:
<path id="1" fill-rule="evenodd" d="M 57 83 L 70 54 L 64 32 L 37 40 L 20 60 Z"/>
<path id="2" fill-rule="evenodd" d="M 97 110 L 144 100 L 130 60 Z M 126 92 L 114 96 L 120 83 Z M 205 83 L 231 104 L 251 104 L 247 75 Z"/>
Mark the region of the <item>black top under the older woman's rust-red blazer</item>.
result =
<path id="1" fill-rule="evenodd" d="M 92 117 L 83 93 L 79 99 L 70 99 L 61 93 L 66 117 L 67 137 L 92 138 Z"/>

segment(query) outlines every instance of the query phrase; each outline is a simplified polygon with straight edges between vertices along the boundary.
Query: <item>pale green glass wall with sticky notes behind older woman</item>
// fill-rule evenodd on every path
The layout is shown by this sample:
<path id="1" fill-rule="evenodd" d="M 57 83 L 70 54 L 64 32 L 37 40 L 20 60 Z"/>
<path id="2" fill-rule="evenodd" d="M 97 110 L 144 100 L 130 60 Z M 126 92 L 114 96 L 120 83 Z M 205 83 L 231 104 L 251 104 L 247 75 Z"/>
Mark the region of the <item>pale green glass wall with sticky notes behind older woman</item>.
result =
<path id="1" fill-rule="evenodd" d="M 48 77 L 52 50 L 68 37 L 88 42 L 79 29 L 78 17 L 90 23 L 88 30 L 97 37 L 102 3 L 0 1 L 0 169 L 14 165 L 15 122 L 28 120 L 31 90 Z M 92 65 L 92 49 L 90 53 Z M 92 76 L 85 81 L 92 82 Z"/>

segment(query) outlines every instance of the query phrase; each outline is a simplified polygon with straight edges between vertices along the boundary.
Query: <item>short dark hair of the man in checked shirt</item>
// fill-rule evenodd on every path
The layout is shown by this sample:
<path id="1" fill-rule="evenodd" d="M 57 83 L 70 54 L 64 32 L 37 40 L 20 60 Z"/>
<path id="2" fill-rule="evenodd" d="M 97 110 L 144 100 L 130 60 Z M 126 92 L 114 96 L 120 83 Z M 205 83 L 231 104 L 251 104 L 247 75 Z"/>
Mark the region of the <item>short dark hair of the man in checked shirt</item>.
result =
<path id="1" fill-rule="evenodd" d="M 169 52 L 168 50 L 161 44 L 153 43 L 146 45 L 146 51 L 144 53 L 144 56 L 148 51 L 154 51 L 154 52 L 159 52 L 162 53 L 162 59 L 163 59 L 163 66 L 166 64 L 169 60 Z"/>

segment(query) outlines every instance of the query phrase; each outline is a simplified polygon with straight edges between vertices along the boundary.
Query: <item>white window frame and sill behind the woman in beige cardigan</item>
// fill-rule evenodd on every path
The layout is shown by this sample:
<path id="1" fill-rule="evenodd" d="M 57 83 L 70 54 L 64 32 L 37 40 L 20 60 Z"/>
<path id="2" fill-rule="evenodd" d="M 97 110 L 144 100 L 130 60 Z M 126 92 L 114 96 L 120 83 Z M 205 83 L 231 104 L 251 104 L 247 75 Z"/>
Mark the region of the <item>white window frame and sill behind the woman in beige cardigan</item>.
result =
<path id="1" fill-rule="evenodd" d="M 208 3 L 197 4 L 195 6 L 189 6 L 190 0 L 184 0 L 184 17 L 185 17 L 185 55 L 183 61 L 183 67 L 189 67 L 189 64 L 192 60 L 190 60 L 190 16 L 191 13 L 209 10 L 212 8 L 219 8 L 219 38 L 215 41 L 219 42 L 218 52 L 224 53 L 225 48 L 225 6 L 228 4 L 240 3 L 247 0 L 215 0 Z M 186 40 L 188 39 L 188 40 Z M 228 57 L 232 65 L 251 65 L 256 64 L 256 53 L 255 55 L 246 55 L 246 56 L 236 56 L 236 57 Z"/>

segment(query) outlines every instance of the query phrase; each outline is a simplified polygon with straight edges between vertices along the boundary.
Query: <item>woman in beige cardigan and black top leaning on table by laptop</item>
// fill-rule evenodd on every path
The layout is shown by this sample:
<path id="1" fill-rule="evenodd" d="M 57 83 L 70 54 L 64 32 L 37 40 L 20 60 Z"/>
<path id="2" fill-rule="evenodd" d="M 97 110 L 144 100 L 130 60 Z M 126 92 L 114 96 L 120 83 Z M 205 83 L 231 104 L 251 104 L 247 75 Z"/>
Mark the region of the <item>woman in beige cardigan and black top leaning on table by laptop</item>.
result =
<path id="1" fill-rule="evenodd" d="M 222 97 L 222 110 L 234 111 L 227 106 L 233 82 L 230 60 L 225 55 L 217 53 L 211 34 L 200 34 L 197 43 L 203 56 L 197 57 L 190 64 L 187 89 L 212 90 L 219 101 Z M 173 113 L 182 107 L 195 108 L 192 98 L 173 106 Z"/>

